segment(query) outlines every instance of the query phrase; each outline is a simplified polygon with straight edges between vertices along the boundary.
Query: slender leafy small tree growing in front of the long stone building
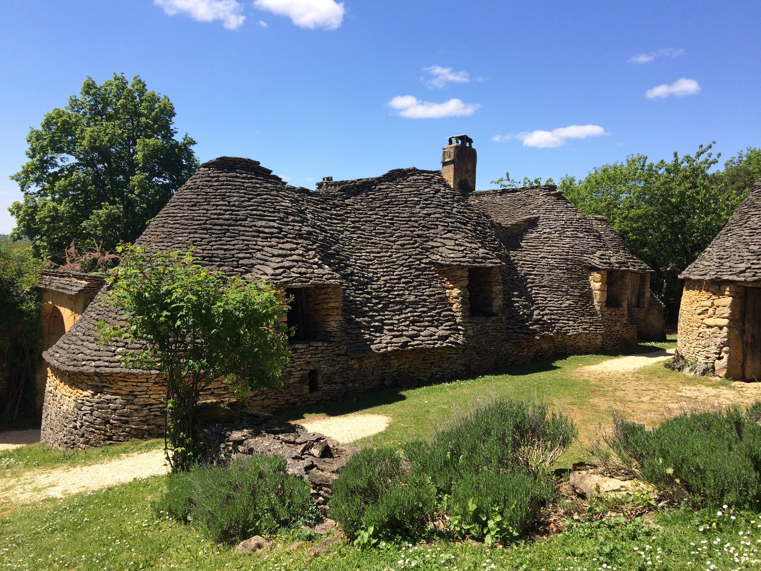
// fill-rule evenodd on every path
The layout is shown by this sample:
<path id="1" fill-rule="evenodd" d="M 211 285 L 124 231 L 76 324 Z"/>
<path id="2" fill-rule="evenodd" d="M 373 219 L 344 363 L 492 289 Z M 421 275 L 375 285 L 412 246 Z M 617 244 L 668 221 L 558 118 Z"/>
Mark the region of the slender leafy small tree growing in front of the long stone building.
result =
<path id="1" fill-rule="evenodd" d="M 204 268 L 187 252 L 119 246 L 106 303 L 129 325 L 98 324 L 98 341 L 132 344 L 126 365 L 162 373 L 165 449 L 172 470 L 198 459 L 199 393 L 219 378 L 237 393 L 279 386 L 288 362 L 288 307 L 265 282 Z"/>

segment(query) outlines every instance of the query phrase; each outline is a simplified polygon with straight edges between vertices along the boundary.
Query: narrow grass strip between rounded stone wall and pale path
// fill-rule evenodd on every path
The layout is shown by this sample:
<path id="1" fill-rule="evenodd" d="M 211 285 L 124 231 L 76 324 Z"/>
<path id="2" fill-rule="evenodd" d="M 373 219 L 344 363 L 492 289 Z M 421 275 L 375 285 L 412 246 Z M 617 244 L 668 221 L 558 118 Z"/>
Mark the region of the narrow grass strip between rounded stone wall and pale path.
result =
<path id="1" fill-rule="evenodd" d="M 113 460 L 123 454 L 147 452 L 163 446 L 163 439 L 151 439 L 132 440 L 124 444 L 100 446 L 99 448 L 58 450 L 49 448 L 41 442 L 35 442 L 21 446 L 21 448 L 0 452 L 0 468 L 4 469 L 2 471 L 4 477 L 10 477 L 18 475 L 21 471 L 37 468 L 51 468 L 64 464 L 66 467 L 97 464 L 98 462 Z"/>

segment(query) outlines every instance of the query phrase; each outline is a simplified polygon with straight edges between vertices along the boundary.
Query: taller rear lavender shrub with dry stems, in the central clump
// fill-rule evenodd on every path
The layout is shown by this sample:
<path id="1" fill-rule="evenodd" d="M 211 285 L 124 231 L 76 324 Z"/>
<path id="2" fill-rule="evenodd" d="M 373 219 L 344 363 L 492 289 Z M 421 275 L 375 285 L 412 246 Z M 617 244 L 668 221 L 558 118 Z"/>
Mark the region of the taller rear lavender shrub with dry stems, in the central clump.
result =
<path id="1" fill-rule="evenodd" d="M 500 474 L 522 466 L 547 472 L 576 433 L 572 420 L 548 414 L 545 403 L 500 399 L 476 405 L 431 445 L 412 443 L 406 451 L 441 493 L 451 493 L 454 483 L 476 471 Z"/>

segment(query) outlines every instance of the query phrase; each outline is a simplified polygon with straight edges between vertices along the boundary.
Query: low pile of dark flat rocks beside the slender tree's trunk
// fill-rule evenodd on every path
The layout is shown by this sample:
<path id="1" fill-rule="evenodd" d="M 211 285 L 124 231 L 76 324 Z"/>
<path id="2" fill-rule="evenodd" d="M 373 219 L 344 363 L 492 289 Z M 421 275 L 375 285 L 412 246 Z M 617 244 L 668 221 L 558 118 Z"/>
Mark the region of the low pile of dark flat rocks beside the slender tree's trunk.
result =
<path id="1" fill-rule="evenodd" d="M 252 413 L 247 418 L 253 426 L 217 424 L 204 429 L 207 459 L 214 464 L 228 464 L 241 456 L 282 456 L 288 474 L 310 483 L 317 508 L 327 516 L 333 481 L 359 448 L 343 446 L 318 432 L 307 432 L 298 424 L 273 423 L 268 420 L 272 417 L 264 413 Z M 256 426 L 256 420 L 265 422 Z"/>

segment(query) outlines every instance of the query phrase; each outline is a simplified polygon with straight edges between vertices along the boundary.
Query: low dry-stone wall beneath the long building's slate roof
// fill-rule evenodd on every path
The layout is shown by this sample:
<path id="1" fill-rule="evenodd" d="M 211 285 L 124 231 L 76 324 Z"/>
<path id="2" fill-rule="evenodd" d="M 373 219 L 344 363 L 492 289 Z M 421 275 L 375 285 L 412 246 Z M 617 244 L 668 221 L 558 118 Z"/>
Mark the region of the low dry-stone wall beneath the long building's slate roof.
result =
<path id="1" fill-rule="evenodd" d="M 393 387 L 403 375 L 435 382 L 458 375 L 542 359 L 556 353 L 603 348 L 602 333 L 543 336 L 505 343 L 483 337 L 494 318 L 473 318 L 470 335 L 482 343 L 437 349 L 407 349 L 349 356 L 339 343 L 294 346 L 282 388 L 244 395 L 247 407 L 274 412 L 298 405 L 358 397 L 374 388 Z M 471 339 L 473 339 L 471 337 Z M 470 348 L 469 348 L 470 347 Z M 232 397 L 221 381 L 202 400 Z M 158 436 L 164 427 L 164 387 L 153 375 L 91 374 L 47 369 L 42 441 L 56 448 L 99 446 Z"/>

